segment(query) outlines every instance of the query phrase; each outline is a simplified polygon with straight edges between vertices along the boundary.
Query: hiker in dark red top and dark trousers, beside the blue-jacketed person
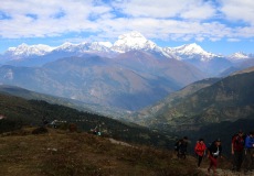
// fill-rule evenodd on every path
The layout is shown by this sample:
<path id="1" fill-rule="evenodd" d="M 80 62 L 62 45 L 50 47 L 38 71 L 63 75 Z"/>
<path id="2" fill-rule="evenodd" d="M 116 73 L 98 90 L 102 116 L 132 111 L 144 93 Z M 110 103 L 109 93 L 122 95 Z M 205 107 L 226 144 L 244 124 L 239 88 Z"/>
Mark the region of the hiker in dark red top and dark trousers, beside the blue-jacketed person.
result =
<path id="1" fill-rule="evenodd" d="M 240 130 L 239 133 L 232 138 L 231 150 L 233 155 L 233 170 L 240 172 L 244 156 L 243 131 Z"/>

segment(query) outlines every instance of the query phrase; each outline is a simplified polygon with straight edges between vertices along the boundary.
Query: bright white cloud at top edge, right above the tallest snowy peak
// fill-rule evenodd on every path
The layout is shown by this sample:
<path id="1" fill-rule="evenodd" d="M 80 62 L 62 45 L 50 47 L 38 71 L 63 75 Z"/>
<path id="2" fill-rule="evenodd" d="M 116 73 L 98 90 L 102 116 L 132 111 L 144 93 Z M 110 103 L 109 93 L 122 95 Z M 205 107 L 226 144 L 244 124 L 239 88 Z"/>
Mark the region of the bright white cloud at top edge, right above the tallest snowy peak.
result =
<path id="1" fill-rule="evenodd" d="M 205 19 L 214 13 L 212 3 L 202 0 L 126 0 L 117 7 L 130 16 Z"/>

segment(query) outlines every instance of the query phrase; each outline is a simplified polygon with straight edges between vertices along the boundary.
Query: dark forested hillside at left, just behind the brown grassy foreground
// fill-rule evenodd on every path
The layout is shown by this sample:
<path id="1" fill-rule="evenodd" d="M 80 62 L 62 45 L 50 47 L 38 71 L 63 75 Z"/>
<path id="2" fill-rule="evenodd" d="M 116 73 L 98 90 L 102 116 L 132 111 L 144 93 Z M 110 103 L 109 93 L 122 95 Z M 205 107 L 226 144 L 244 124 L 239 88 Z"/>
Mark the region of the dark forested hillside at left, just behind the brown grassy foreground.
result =
<path id="1" fill-rule="evenodd" d="M 24 125 L 42 125 L 42 120 L 45 119 L 49 123 L 57 120 L 59 127 L 62 128 L 74 123 L 78 131 L 89 132 L 96 128 L 102 135 L 129 143 L 172 146 L 170 136 L 152 132 L 147 128 L 40 100 L 25 100 L 0 94 L 0 113 L 3 117 L 0 120 L 0 132 L 21 129 Z"/>

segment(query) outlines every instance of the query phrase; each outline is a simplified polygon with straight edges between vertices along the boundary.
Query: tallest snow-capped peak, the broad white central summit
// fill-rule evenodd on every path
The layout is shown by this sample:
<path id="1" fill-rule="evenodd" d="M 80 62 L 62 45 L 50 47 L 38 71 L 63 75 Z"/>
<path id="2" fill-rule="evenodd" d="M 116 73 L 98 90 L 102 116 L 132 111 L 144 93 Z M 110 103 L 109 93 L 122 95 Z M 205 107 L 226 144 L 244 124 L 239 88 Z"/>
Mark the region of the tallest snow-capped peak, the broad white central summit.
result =
<path id="1" fill-rule="evenodd" d="M 133 50 L 155 50 L 157 45 L 147 40 L 139 32 L 130 32 L 118 36 L 118 40 L 114 43 L 112 50 L 116 52 L 128 52 Z"/>

